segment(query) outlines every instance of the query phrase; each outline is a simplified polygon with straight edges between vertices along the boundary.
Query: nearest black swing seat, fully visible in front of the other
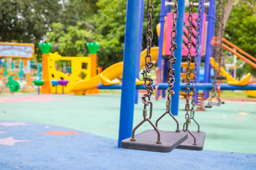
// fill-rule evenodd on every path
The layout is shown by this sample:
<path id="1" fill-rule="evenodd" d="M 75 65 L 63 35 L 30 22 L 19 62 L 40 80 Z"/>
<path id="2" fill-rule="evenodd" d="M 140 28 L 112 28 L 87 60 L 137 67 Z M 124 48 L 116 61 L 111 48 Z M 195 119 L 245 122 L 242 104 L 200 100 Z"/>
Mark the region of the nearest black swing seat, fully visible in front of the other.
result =
<path id="1" fill-rule="evenodd" d="M 144 132 L 135 135 L 136 141 L 131 141 L 131 137 L 122 140 L 121 147 L 151 152 L 171 152 L 188 139 L 188 134 L 184 132 L 159 131 L 161 134 L 161 144 L 156 144 L 156 130 L 145 130 Z"/>

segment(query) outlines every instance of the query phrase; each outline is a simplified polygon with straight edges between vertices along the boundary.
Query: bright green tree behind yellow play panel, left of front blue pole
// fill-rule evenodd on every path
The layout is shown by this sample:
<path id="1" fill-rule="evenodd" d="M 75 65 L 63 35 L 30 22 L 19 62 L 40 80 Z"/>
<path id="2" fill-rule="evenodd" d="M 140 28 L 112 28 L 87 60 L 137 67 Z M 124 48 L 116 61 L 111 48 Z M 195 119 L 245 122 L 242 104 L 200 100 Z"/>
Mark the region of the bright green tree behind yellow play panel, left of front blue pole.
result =
<path id="1" fill-rule="evenodd" d="M 66 2 L 64 6 L 75 6 L 75 4 L 68 3 L 71 3 L 71 1 Z M 146 4 L 145 1 L 142 49 L 146 47 Z M 70 12 L 73 13 L 74 20 L 72 21 L 67 18 L 65 22 L 61 19 L 60 23 L 54 23 L 53 31 L 49 32 L 47 37 L 49 42 L 53 42 L 52 51 L 58 51 L 63 56 L 86 56 L 86 42 L 99 42 L 100 48 L 97 52 L 98 64 L 105 69 L 111 64 L 123 60 L 127 0 L 101 0 L 96 3 L 96 6 L 92 10 L 97 8 L 97 13 L 87 17 L 86 22 L 81 17 L 85 15 L 85 12 L 79 15 Z M 157 0 L 154 1 L 153 46 L 158 45 L 156 24 L 159 23 L 159 11 L 160 0 Z M 74 25 L 75 21 L 77 23 Z M 68 23 L 69 26 L 65 23 Z"/>

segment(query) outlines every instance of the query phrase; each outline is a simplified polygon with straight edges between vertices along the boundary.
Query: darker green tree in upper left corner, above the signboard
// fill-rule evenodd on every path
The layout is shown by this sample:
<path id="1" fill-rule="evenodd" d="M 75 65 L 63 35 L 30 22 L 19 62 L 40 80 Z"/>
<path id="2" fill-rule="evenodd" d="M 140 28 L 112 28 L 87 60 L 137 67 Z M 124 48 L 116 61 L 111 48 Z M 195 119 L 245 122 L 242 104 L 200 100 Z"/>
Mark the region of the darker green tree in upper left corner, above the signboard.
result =
<path id="1" fill-rule="evenodd" d="M 1 0 L 0 40 L 37 45 L 51 29 L 51 23 L 58 21 L 61 8 L 58 0 Z"/>

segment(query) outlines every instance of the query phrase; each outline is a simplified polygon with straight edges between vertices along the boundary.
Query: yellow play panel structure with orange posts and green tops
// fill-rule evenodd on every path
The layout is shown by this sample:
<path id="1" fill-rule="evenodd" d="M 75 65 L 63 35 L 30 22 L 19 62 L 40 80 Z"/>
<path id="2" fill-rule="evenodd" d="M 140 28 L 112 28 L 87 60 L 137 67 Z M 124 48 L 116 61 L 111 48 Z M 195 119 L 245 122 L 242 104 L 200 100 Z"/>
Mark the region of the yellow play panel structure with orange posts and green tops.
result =
<path id="1" fill-rule="evenodd" d="M 58 52 L 51 53 L 51 43 L 40 43 L 41 51 L 43 53 L 43 84 L 41 88 L 42 94 L 69 94 L 70 89 L 75 84 L 82 80 L 87 80 L 97 75 L 97 49 L 99 45 L 97 43 L 87 42 L 87 47 L 90 52 L 90 57 L 62 57 Z M 65 74 L 56 70 L 55 62 L 57 61 L 70 61 L 71 63 L 71 74 Z M 85 75 L 82 77 L 82 74 Z M 66 80 L 66 88 L 63 89 L 60 86 L 51 84 L 50 81 Z M 84 91 L 82 91 L 82 94 Z M 98 94 L 98 89 L 91 89 L 86 91 L 87 94 Z"/>

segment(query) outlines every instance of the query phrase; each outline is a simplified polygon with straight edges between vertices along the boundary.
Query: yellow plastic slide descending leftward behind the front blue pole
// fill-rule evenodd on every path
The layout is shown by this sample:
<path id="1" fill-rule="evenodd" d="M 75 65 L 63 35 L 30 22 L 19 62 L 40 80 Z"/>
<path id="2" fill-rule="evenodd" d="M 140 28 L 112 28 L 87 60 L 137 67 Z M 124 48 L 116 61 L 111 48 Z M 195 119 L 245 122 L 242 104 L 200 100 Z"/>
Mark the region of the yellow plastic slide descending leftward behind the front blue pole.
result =
<path id="1" fill-rule="evenodd" d="M 159 52 L 159 47 L 151 48 L 152 60 L 157 60 L 158 52 Z M 141 68 L 144 67 L 145 55 L 146 55 L 146 50 L 141 52 L 141 62 L 140 62 Z M 102 83 L 105 86 L 121 83 L 121 81 L 112 82 L 112 80 L 122 76 L 123 64 L 124 64 L 123 62 L 118 62 L 116 64 L 111 65 L 110 67 L 107 67 L 107 69 L 105 69 L 103 72 L 98 74 L 96 77 L 92 77 L 92 79 L 78 81 L 70 91 L 73 91 L 75 95 L 83 95 L 85 94 L 85 91 L 89 89 L 95 89 L 97 84 L 100 84 L 100 83 Z M 137 85 L 144 84 L 144 81 L 139 81 L 137 79 L 136 84 Z"/>

